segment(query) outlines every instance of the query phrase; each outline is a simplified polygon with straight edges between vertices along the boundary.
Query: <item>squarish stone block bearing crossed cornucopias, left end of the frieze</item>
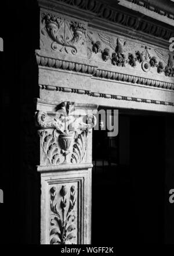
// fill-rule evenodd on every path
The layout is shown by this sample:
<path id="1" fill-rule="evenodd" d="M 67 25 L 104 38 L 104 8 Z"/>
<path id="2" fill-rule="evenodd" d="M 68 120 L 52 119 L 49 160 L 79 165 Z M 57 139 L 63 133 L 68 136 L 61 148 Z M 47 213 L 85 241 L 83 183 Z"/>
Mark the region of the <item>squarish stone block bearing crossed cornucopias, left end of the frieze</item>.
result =
<path id="1" fill-rule="evenodd" d="M 50 12 L 41 13 L 41 48 L 63 54 L 82 53 L 86 51 L 86 24 L 79 20 L 68 20 L 67 17 Z M 86 52 L 85 52 L 86 54 Z"/>

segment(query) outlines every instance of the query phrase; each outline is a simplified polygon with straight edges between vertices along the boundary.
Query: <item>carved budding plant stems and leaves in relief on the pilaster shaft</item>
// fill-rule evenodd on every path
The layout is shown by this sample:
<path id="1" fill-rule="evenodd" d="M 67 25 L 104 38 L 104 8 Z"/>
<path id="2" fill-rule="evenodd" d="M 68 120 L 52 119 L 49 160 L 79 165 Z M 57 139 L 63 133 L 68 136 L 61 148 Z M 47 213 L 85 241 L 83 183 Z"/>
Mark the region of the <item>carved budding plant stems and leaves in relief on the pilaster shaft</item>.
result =
<path id="1" fill-rule="evenodd" d="M 76 202 L 74 185 L 70 188 L 69 205 L 67 205 L 67 192 L 66 185 L 62 185 L 59 191 L 61 201 L 58 205 L 58 202 L 55 202 L 56 187 L 50 189 L 50 210 L 53 216 L 50 220 L 50 244 L 73 244 L 71 241 L 75 239 L 74 231 L 77 227 L 74 225 L 76 218 L 73 211 Z M 60 206 L 60 211 L 58 206 Z"/>

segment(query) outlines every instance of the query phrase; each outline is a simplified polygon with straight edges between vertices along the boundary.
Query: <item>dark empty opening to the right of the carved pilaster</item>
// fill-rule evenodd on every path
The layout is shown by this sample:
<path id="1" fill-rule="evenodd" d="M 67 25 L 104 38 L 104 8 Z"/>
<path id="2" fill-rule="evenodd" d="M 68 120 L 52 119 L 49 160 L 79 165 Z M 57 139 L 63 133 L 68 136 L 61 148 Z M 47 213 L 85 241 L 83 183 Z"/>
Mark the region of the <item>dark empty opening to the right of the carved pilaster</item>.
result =
<path id="1" fill-rule="evenodd" d="M 172 243 L 173 115 L 119 109 L 118 125 L 93 131 L 92 244 Z"/>

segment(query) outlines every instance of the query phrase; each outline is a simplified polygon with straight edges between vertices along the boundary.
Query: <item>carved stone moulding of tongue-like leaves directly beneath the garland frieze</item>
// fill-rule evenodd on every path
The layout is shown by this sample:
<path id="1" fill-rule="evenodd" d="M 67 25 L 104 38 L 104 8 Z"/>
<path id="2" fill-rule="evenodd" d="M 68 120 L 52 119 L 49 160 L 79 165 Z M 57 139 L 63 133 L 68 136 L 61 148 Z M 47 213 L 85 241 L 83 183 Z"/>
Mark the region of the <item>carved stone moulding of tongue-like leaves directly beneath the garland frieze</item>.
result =
<path id="1" fill-rule="evenodd" d="M 118 80 L 122 82 L 129 82 L 137 85 L 146 85 L 151 87 L 160 87 L 169 90 L 174 90 L 174 83 L 164 82 L 160 80 L 147 79 L 146 77 L 135 76 L 135 75 L 126 75 L 121 72 L 113 72 L 107 71 L 104 69 L 100 69 L 94 65 L 83 64 L 80 62 L 67 61 L 65 59 L 55 59 L 45 56 L 40 56 L 38 53 L 36 54 L 37 64 L 41 66 L 48 66 L 50 68 L 59 68 L 69 71 L 88 73 L 92 76 L 98 78 L 106 78 L 112 80 Z"/>

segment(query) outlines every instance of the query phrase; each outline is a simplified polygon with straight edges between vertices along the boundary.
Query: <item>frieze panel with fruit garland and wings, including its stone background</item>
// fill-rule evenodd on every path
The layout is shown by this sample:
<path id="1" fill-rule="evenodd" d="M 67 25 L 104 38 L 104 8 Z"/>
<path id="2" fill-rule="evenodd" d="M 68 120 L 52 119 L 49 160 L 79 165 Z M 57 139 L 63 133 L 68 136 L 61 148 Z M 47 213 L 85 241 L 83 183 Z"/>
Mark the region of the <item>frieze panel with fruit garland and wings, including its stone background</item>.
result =
<path id="1" fill-rule="evenodd" d="M 108 64 L 141 69 L 144 72 L 164 73 L 174 77 L 174 55 L 147 45 L 115 38 L 103 33 L 88 33 L 88 58 L 97 59 Z"/>

